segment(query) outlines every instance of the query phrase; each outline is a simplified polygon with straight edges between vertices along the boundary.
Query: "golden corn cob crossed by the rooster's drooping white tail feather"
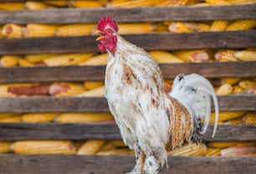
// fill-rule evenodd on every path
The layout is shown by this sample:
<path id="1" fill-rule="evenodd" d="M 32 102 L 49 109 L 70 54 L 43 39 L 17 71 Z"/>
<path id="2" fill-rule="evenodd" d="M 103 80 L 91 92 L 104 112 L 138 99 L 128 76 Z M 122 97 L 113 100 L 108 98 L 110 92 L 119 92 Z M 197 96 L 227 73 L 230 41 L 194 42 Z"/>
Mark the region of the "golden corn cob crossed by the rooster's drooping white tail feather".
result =
<path id="1" fill-rule="evenodd" d="M 245 113 L 246 112 L 219 112 L 218 122 L 226 122 L 234 118 L 243 117 Z M 210 124 L 213 124 L 215 122 L 214 116 L 215 116 L 215 113 L 212 112 L 210 121 L 209 121 Z"/>

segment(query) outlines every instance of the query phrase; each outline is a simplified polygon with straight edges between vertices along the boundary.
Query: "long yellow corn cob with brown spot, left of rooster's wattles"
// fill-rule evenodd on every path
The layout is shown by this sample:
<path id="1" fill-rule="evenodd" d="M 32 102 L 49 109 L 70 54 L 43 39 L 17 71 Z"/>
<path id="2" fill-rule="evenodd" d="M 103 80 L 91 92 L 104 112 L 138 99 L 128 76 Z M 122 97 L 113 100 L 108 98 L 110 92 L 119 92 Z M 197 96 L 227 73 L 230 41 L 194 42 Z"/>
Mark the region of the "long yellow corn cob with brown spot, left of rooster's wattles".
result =
<path id="1" fill-rule="evenodd" d="M 44 63 L 49 67 L 77 65 L 89 60 L 93 55 L 93 52 L 60 54 L 56 57 L 44 59 Z"/>

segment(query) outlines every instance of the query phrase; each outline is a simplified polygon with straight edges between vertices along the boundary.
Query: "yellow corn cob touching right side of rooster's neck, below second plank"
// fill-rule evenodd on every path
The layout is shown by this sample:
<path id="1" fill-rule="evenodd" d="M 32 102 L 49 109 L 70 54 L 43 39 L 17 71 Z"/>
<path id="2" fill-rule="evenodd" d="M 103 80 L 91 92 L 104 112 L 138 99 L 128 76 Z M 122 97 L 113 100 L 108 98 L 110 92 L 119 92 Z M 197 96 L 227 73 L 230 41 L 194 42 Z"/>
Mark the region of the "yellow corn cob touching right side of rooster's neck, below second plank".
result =
<path id="1" fill-rule="evenodd" d="M 182 59 L 173 56 L 170 52 L 164 51 L 151 51 L 151 57 L 153 57 L 156 62 L 164 63 L 164 62 L 184 62 Z"/>

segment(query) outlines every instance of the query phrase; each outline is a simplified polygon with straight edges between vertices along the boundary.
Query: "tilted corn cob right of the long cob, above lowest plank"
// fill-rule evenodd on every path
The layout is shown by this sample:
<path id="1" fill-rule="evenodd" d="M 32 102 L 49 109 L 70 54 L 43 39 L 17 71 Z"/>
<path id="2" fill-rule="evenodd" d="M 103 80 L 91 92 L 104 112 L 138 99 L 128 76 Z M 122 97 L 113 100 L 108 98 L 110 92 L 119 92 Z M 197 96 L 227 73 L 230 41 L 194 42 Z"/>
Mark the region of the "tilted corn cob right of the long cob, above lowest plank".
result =
<path id="1" fill-rule="evenodd" d="M 79 148 L 77 155 L 94 155 L 100 151 L 105 144 L 105 140 L 88 140 Z"/>

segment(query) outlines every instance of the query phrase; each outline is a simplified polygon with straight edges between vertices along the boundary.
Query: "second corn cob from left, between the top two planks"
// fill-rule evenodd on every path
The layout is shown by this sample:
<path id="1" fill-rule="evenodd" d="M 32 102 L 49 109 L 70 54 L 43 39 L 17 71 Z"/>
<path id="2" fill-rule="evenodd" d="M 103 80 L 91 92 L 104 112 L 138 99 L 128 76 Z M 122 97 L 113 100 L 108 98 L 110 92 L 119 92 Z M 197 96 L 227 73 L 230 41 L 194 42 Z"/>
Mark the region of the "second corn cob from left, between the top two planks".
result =
<path id="1" fill-rule="evenodd" d="M 59 26 L 48 24 L 28 24 L 23 29 L 24 37 L 53 37 Z"/>

